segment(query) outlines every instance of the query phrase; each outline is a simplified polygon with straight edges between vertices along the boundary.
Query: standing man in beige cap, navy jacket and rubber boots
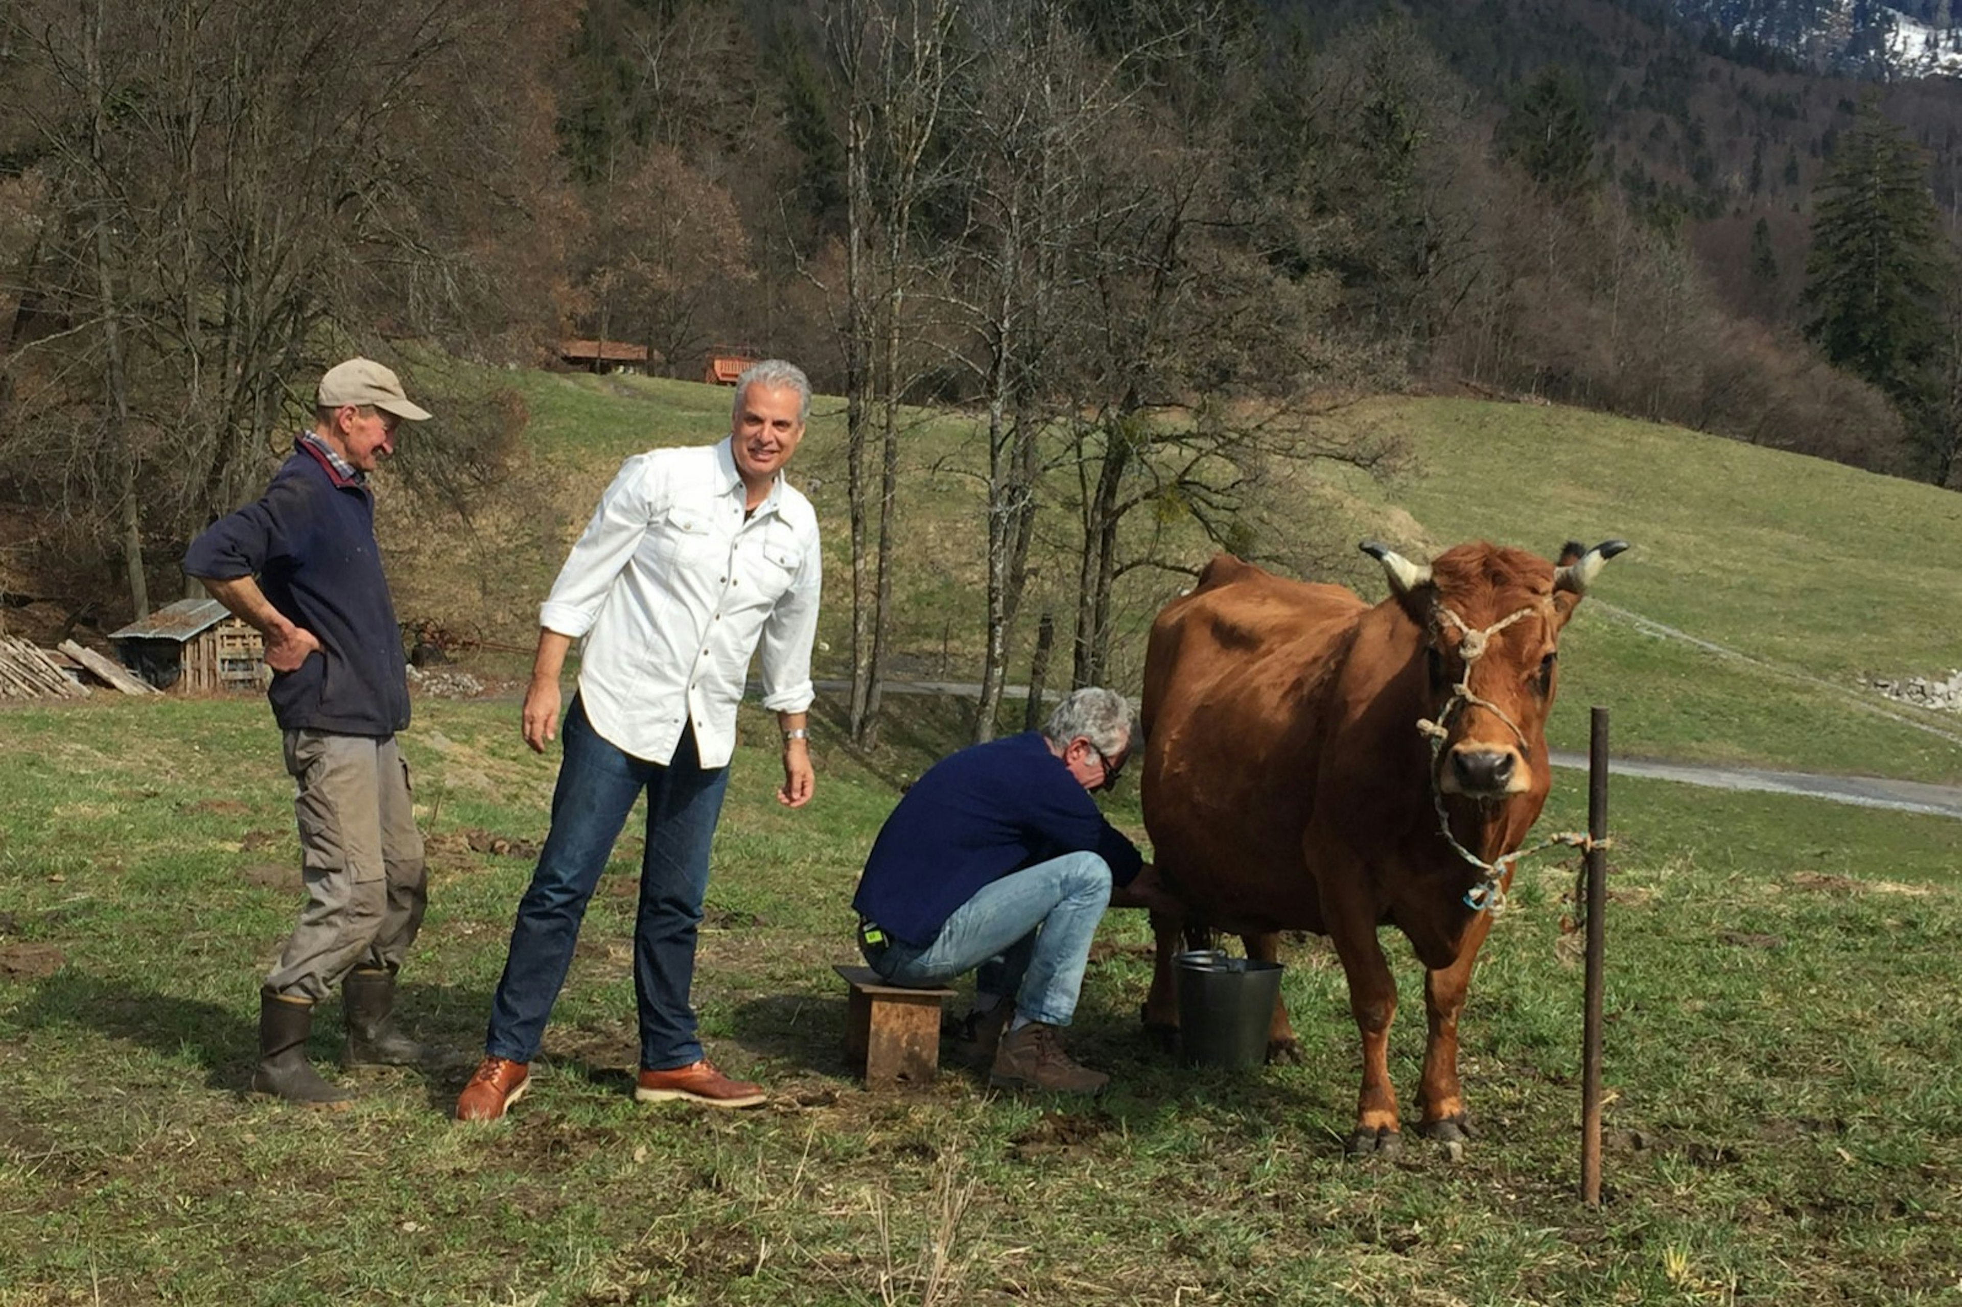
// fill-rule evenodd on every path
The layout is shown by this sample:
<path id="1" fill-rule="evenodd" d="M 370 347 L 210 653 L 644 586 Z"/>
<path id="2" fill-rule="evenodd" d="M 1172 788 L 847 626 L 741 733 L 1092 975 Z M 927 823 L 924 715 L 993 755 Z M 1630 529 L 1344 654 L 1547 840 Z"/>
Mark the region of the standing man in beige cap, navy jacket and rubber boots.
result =
<path id="1" fill-rule="evenodd" d="M 310 1107 L 349 1097 L 306 1060 L 314 1003 L 336 983 L 347 1066 L 412 1064 L 426 1052 L 390 1020 L 426 877 L 394 742 L 408 726 L 402 634 L 367 477 L 394 453 L 396 424 L 428 416 L 381 363 L 330 369 L 314 430 L 292 442 L 265 495 L 214 522 L 184 555 L 184 571 L 265 636 L 273 669 L 267 697 L 296 787 L 306 907 L 259 991 L 251 1087 Z"/>

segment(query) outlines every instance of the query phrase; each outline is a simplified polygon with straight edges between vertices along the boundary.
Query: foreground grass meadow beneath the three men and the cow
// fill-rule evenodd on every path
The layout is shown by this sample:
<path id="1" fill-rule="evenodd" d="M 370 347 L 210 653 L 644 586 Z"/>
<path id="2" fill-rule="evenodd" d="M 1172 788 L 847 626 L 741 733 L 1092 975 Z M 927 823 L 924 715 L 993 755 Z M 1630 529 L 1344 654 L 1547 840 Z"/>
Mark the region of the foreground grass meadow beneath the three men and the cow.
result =
<path id="1" fill-rule="evenodd" d="M 1601 642 L 1599 648 L 1609 648 Z M 404 748 L 432 909 L 414 1028 L 475 1052 L 553 777 L 514 705 L 422 699 Z M 351 1077 L 353 1111 L 245 1095 L 257 973 L 298 907 L 265 706 L 0 714 L 0 1303 L 1944 1303 L 1962 1301 L 1956 824 L 1615 783 L 1607 1150 L 1575 1201 L 1575 863 L 1528 863 L 1479 964 L 1464 1072 L 1481 1136 L 1342 1156 L 1358 1081 L 1340 967 L 1285 950 L 1299 1066 L 1187 1072 L 1138 1026 L 1136 915 L 1105 922 L 1073 1048 L 1097 1103 L 846 1073 L 859 860 L 954 748 L 906 701 L 875 754 L 816 712 L 818 797 L 771 797 L 746 718 L 697 1001 L 710 1056 L 773 1091 L 638 1107 L 632 840 L 506 1123 L 447 1121 L 463 1070 Z M 1562 773 L 1542 832 L 1581 824 Z M 1136 828 L 1134 797 L 1114 820 Z M 632 832 L 632 826 L 630 826 Z M 479 852 L 492 840 L 518 854 Z M 1399 1091 L 1420 1056 L 1405 989 Z M 328 1005 L 314 1054 L 334 1056 Z M 1413 1103 L 1405 1103 L 1409 1121 Z"/>

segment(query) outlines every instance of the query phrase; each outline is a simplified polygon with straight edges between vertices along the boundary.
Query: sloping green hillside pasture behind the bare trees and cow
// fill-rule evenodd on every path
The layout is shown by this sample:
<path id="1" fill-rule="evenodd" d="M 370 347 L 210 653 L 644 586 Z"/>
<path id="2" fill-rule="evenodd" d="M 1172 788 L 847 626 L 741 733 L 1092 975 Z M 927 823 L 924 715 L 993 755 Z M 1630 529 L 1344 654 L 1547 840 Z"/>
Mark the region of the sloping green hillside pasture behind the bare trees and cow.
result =
<path id="1" fill-rule="evenodd" d="M 385 487 L 383 542 L 404 618 L 432 616 L 528 650 L 538 601 L 628 453 L 710 440 L 730 392 L 683 381 L 485 373 L 516 385 L 530 414 L 506 485 L 473 520 L 410 514 Z M 1428 557 L 1473 538 L 1552 555 L 1566 540 L 1634 542 L 1581 606 L 1562 648 L 1556 748 L 1585 748 L 1605 705 L 1628 756 L 1801 771 L 1962 781 L 1962 720 L 1880 699 L 1862 675 L 1946 677 L 1962 665 L 1962 497 L 1836 463 L 1581 410 L 1383 398 L 1320 420 L 1391 438 L 1385 481 L 1273 459 L 1248 510 L 1281 571 L 1385 593 L 1356 551 L 1379 538 Z M 981 669 L 985 447 L 975 422 L 908 414 L 895 549 L 895 679 L 971 681 Z M 844 408 L 812 406 L 791 467 L 824 526 L 826 610 L 818 675 L 850 671 L 850 538 Z M 1054 677 L 1067 677 L 1075 479 L 1056 469 L 1036 575 L 1014 632 L 1024 679 L 1036 616 L 1058 620 Z M 1150 518 L 1150 522 L 1146 520 Z M 1171 567 L 1211 555 L 1191 522 L 1140 514 L 1130 546 L 1162 532 Z M 1114 683 L 1136 693 L 1144 630 L 1189 575 L 1142 567 L 1116 591 Z M 522 669 L 522 659 L 520 659 Z"/>

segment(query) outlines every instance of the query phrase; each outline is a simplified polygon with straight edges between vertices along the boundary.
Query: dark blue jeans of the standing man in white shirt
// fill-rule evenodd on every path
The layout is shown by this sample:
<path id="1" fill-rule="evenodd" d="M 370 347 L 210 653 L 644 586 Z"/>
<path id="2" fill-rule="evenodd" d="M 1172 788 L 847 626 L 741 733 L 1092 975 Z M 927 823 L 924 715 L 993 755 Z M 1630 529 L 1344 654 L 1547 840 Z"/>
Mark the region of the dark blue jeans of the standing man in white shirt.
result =
<path id="1" fill-rule="evenodd" d="M 663 767 L 622 754 L 587 720 L 579 697 L 559 732 L 565 759 L 551 791 L 551 832 L 518 901 L 504 977 L 490 1003 L 485 1052 L 530 1062 L 545 1019 L 565 985 L 579 922 L 612 856 L 640 791 L 647 791 L 647 850 L 640 862 L 640 915 L 634 922 L 634 997 L 640 1007 L 640 1064 L 651 1072 L 700 1062 L 695 1040 L 695 928 L 708 889 L 708 842 L 722 812 L 728 767 L 702 767 L 695 732 L 683 732 Z"/>

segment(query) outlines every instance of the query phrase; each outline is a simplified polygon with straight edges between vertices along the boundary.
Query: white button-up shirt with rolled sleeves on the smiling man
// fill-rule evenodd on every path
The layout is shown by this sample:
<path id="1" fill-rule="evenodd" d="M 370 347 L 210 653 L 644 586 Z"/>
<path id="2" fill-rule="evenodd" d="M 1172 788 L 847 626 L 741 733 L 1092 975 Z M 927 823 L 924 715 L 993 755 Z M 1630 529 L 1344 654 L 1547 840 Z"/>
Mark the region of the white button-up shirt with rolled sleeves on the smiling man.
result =
<path id="1" fill-rule="evenodd" d="M 704 767 L 736 752 L 763 648 L 763 706 L 810 706 L 818 514 L 777 473 L 744 520 L 730 442 L 636 453 L 600 497 L 538 620 L 583 638 L 579 699 L 614 748 L 667 763 L 695 722 Z"/>

